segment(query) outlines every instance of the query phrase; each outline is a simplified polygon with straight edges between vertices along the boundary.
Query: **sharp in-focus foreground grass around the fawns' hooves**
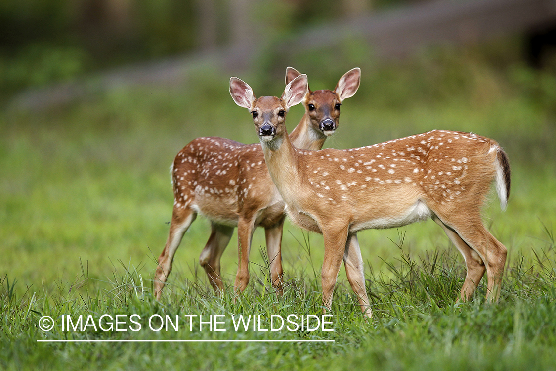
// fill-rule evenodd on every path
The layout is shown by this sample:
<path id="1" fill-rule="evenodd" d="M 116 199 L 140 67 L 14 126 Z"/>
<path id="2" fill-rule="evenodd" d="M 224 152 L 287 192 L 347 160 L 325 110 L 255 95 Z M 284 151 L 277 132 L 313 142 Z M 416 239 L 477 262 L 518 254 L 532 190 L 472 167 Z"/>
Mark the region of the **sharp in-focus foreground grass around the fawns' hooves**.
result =
<path id="1" fill-rule="evenodd" d="M 547 233 L 552 233 L 547 231 Z M 488 305 L 479 296 L 471 303 L 455 304 L 454 292 L 463 281 L 459 257 L 446 251 L 431 251 L 413 260 L 399 246 L 399 256 L 388 263 L 390 274 L 369 276 L 375 318 L 364 319 L 353 294 L 339 285 L 335 290 L 334 332 L 259 332 L 233 330 L 231 315 L 271 314 L 320 315 L 318 280 L 296 271 L 282 298 L 265 293 L 267 269 L 255 272 L 252 287 L 234 303 L 231 290 L 215 297 L 204 284 L 174 283 L 162 303 L 145 288 L 138 270 L 118 266 L 106 288 L 91 290 L 94 280 L 82 271 L 80 290 L 61 283 L 55 289 L 19 297 L 13 283 L 2 279 L 2 358 L 6 369 L 120 369 L 145 368 L 150 364 L 170 369 L 186 362 L 188 368 L 300 368 L 332 365 L 337 369 L 380 367 L 384 369 L 550 369 L 546 350 L 556 345 L 556 314 L 553 303 L 554 241 L 547 234 L 543 255 L 529 260 L 519 256 L 508 267 L 500 303 Z M 397 242 L 399 243 L 399 241 Z M 306 253 L 300 253 L 300 258 Z M 69 289 L 69 290 L 68 290 Z M 81 291 L 81 293 L 79 292 Z M 484 294 L 484 288 L 481 288 Z M 37 328 L 39 316 L 48 313 L 58 320 L 52 332 Z M 142 321 L 140 332 L 66 331 L 60 329 L 61 315 L 80 314 L 98 319 L 101 314 L 153 314 L 180 316 L 176 332 L 154 332 Z M 195 327 L 190 331 L 185 314 L 222 314 L 226 332 Z M 127 323 L 130 323 L 129 321 Z M 195 322 L 194 322 L 195 323 Z M 105 328 L 109 324 L 105 323 Z M 157 328 L 158 323 L 153 323 Z M 206 326 L 206 325 L 205 325 Z M 125 327 L 126 328 L 126 327 Z M 264 322 L 263 328 L 269 328 Z M 36 343 L 37 339 L 329 339 L 334 343 Z M 549 353 L 549 352 L 548 352 Z"/>

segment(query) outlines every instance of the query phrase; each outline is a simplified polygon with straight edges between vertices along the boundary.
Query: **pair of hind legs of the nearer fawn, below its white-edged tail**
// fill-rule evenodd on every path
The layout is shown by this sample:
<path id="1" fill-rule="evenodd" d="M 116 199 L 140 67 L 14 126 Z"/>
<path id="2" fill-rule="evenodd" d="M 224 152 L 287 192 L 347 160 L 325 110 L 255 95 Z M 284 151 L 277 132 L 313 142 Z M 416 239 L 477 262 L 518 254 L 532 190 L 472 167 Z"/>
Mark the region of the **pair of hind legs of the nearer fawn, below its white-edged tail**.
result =
<path id="1" fill-rule="evenodd" d="M 483 261 L 484 264 L 484 268 L 481 268 L 480 263 L 478 263 L 479 259 L 477 259 L 469 249 L 466 249 L 464 244 L 456 244 L 458 249 L 463 248 L 463 251 L 460 251 L 462 251 L 466 259 L 465 264 L 468 266 L 469 276 L 469 280 L 467 277 L 465 279 L 464 287 L 462 288 L 463 295 L 460 294 L 461 299 L 468 299 L 469 296 L 473 294 L 476 285 L 480 281 L 480 277 L 483 276 L 484 270 L 486 269 L 486 277 L 488 279 L 486 300 L 490 303 L 497 301 L 500 295 L 500 284 L 502 283 L 502 274 L 504 273 L 504 265 L 506 262 L 507 249 L 505 246 L 486 230 L 483 222 L 480 220 L 479 212 L 471 215 L 468 213 L 465 223 L 458 222 L 454 217 L 451 219 L 440 218 L 442 224 L 448 227 L 448 230 L 451 232 L 450 234 L 447 233 L 448 236 L 450 237 L 450 235 L 453 234 L 457 235 L 468 248 L 478 255 L 479 259 Z M 446 220 L 450 220 L 451 224 L 445 222 Z M 453 235 L 454 238 L 456 237 L 455 235 Z M 457 238 L 455 238 L 455 240 L 458 241 Z M 469 259 L 469 263 L 467 260 L 468 256 L 472 258 Z M 465 285 L 466 283 L 467 285 Z"/>

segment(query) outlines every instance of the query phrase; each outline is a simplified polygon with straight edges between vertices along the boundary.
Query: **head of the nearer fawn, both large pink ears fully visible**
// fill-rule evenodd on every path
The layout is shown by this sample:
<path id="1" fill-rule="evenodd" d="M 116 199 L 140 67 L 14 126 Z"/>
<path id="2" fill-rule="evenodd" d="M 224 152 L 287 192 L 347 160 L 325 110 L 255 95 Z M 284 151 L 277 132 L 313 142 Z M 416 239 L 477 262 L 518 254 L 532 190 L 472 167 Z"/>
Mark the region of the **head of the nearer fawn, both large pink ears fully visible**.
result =
<path id="1" fill-rule="evenodd" d="M 238 106 L 245 107 L 251 112 L 261 144 L 270 142 L 274 138 L 281 138 L 285 134 L 284 121 L 287 111 L 291 106 L 301 103 L 308 89 L 307 75 L 300 75 L 286 85 L 280 98 L 257 99 L 247 83 L 237 77 L 230 78 L 230 95 Z"/>

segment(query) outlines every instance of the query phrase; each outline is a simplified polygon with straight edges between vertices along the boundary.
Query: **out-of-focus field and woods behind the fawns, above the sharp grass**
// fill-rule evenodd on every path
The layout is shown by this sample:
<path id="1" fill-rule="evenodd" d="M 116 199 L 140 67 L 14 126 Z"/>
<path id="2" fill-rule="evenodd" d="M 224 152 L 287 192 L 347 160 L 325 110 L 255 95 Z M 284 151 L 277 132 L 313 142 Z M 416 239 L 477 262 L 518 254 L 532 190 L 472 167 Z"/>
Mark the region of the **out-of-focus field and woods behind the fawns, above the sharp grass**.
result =
<path id="1" fill-rule="evenodd" d="M 556 222 L 554 0 L 19 0 L 0 3 L 2 280 L 102 281 L 118 264 L 151 275 L 172 212 L 173 157 L 197 136 L 256 142 L 229 78 L 280 95 L 287 66 L 312 90 L 361 68 L 327 147 L 433 128 L 495 138 L 513 189 L 508 211 L 493 202 L 487 224 L 510 253 L 543 248 Z M 302 113 L 292 108 L 290 131 Z M 197 275 L 209 235 L 199 220 L 175 274 Z M 364 259 L 380 268 L 398 232 L 362 234 Z M 416 253 L 448 246 L 429 223 L 404 233 Z M 286 269 L 303 239 L 285 232 Z M 236 244 L 223 258 L 230 283 Z"/>

